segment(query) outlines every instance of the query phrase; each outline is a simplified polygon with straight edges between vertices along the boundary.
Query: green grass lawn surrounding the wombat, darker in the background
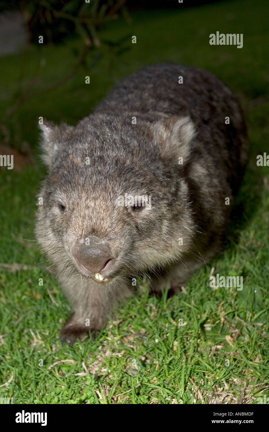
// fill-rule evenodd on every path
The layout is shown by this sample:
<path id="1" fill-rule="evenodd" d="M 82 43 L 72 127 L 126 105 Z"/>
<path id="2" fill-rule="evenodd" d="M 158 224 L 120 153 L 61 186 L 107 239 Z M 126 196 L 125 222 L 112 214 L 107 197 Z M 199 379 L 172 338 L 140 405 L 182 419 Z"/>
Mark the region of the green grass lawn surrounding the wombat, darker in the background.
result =
<path id="1" fill-rule="evenodd" d="M 125 42 L 130 49 L 117 57 L 102 47 L 97 63 L 91 51 L 72 81 L 29 99 L 5 121 L 7 145 L 20 149 L 28 142 L 36 163 L 20 172 L 2 169 L 0 176 L 0 262 L 28 266 L 0 268 L 0 385 L 13 378 L 0 387 L 0 397 L 13 397 L 14 403 L 166 404 L 202 403 L 201 397 L 204 403 L 211 398 L 237 403 L 241 394 L 244 403 L 257 403 L 257 397 L 268 396 L 269 173 L 268 167 L 256 166 L 269 140 L 268 12 L 266 1 L 241 0 L 182 12 L 179 7 L 177 12 L 135 13 L 131 25 L 113 22 L 101 38 L 136 35 L 137 43 Z M 210 46 L 209 34 L 217 30 L 243 33 L 244 47 Z M 0 116 L 16 101 L 22 63 L 25 87 L 45 59 L 38 78 L 38 89 L 45 89 L 69 72 L 78 48 L 75 40 L 30 48 L 26 62 L 25 54 L 1 58 Z M 164 60 L 204 67 L 240 95 L 251 143 L 238 197 L 243 215 L 235 212 L 225 252 L 193 276 L 187 293 L 167 299 L 164 292 L 159 299 L 145 286 L 114 311 L 94 342 L 62 347 L 60 328 L 70 305 L 59 284 L 43 272 L 44 264 L 38 264 L 44 257 L 33 234 L 35 196 L 45 175 L 37 156 L 37 119 L 75 124 L 118 79 Z M 91 84 L 85 88 L 86 75 Z M 212 267 L 215 274 L 244 276 L 243 290 L 212 290 Z M 41 277 L 43 286 L 38 285 Z"/>

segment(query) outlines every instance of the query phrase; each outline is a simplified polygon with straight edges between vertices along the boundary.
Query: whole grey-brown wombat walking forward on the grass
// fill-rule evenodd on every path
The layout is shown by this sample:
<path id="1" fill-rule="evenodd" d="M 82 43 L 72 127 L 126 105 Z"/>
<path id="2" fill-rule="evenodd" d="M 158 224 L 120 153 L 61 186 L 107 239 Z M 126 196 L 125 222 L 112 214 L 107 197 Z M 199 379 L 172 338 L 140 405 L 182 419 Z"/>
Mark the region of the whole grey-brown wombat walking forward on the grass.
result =
<path id="1" fill-rule="evenodd" d="M 73 307 L 63 343 L 101 330 L 138 276 L 177 292 L 222 250 L 248 139 L 216 76 L 146 66 L 76 127 L 44 121 L 41 131 L 36 235 Z"/>

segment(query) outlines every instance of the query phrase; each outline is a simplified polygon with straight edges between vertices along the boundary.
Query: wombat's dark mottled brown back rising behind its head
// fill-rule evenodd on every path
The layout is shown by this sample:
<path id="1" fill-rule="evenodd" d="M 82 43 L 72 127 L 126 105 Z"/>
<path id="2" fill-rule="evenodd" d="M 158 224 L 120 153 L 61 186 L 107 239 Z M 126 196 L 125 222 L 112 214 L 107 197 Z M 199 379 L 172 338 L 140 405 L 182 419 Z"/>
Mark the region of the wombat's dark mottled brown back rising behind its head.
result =
<path id="1" fill-rule="evenodd" d="M 190 160 L 224 165 L 237 192 L 248 160 L 246 125 L 236 96 L 212 73 L 174 63 L 143 67 L 112 89 L 95 113 L 133 115 L 137 122 L 190 116 L 199 133 Z"/>

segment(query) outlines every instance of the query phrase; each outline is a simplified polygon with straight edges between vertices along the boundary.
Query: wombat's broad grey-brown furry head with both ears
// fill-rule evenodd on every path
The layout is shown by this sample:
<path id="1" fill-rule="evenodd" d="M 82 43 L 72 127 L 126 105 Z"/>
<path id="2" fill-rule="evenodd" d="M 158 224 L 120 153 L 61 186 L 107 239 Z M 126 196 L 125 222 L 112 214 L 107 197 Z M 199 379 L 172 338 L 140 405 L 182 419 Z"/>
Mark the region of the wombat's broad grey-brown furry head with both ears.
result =
<path id="1" fill-rule="evenodd" d="M 190 248 L 189 118 L 149 126 L 92 115 L 76 127 L 41 130 L 49 171 L 36 232 L 59 269 L 110 283 L 164 267 Z"/>

